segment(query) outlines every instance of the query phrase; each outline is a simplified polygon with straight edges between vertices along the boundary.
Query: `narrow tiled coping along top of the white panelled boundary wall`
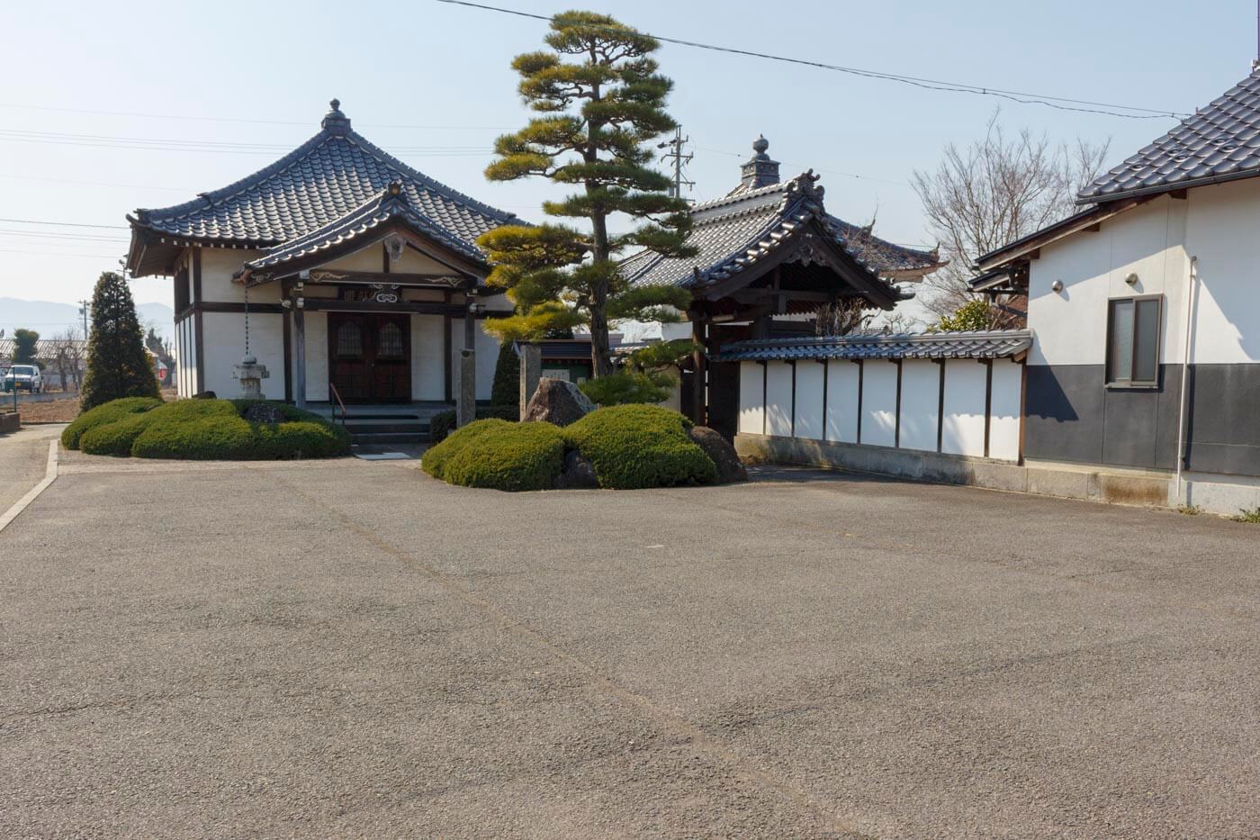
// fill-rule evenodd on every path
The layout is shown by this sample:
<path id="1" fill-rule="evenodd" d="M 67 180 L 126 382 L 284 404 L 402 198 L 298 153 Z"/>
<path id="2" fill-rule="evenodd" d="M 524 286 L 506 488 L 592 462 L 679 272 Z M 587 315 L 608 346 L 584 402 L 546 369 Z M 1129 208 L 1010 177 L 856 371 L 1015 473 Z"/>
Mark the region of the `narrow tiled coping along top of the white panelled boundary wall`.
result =
<path id="1" fill-rule="evenodd" d="M 723 344 L 721 362 L 766 362 L 828 358 L 1012 358 L 1032 347 L 1027 329 L 975 333 L 912 333 L 762 338 Z"/>

